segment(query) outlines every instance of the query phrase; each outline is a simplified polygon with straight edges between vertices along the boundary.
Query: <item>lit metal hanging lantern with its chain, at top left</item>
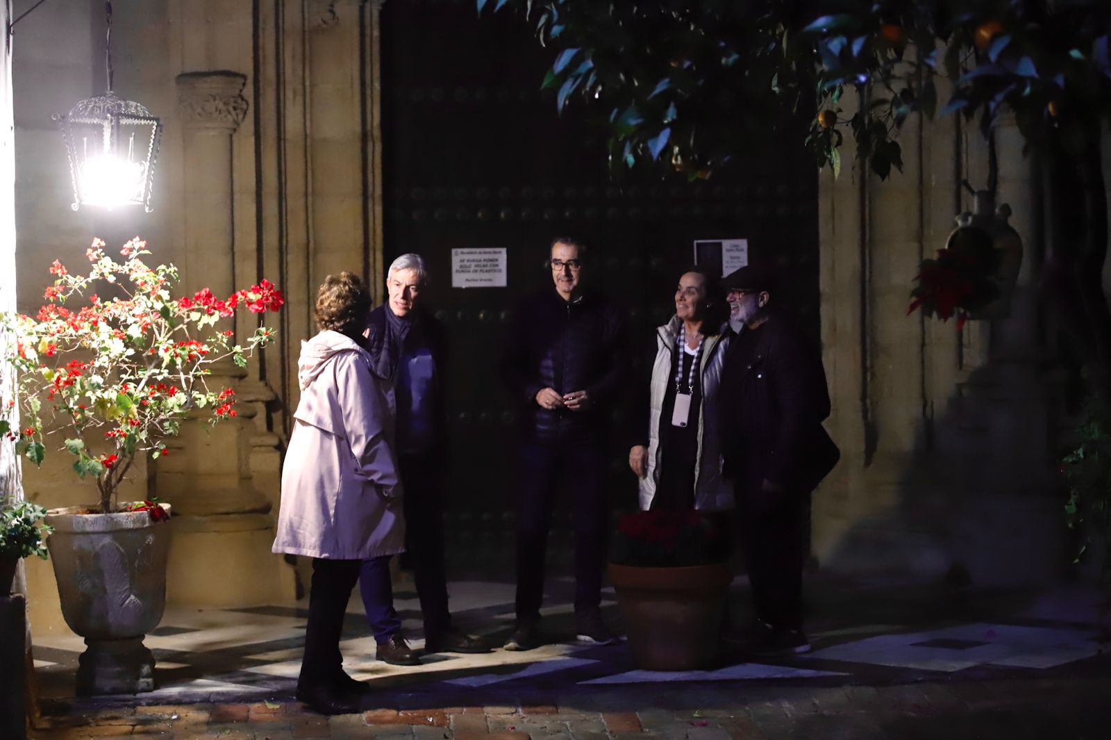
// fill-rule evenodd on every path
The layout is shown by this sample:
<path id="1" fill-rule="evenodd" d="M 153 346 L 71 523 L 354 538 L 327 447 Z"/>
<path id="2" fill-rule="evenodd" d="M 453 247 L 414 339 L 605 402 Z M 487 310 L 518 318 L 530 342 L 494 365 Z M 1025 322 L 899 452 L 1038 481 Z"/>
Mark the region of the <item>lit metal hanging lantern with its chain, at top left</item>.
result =
<path id="1" fill-rule="evenodd" d="M 108 92 L 54 116 L 66 141 L 76 211 L 82 206 L 142 206 L 148 212 L 162 123 L 132 100 L 112 92 L 112 3 L 106 2 Z"/>

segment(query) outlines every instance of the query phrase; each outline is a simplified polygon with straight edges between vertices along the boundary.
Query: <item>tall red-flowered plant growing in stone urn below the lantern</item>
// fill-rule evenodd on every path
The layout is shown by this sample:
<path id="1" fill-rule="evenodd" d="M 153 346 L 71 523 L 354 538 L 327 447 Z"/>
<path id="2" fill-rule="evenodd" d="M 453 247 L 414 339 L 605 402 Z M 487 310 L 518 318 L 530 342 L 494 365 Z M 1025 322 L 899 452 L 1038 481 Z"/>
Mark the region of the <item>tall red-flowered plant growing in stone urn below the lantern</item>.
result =
<path id="1" fill-rule="evenodd" d="M 0 419 L 0 433 L 36 464 L 57 436 L 53 447 L 73 457 L 78 476 L 96 479 L 100 511 L 110 512 L 137 456 L 167 454 L 166 439 L 187 417 L 214 424 L 236 416 L 236 392 L 213 382 L 212 366 L 246 367 L 273 330 L 259 326 L 237 343 L 231 319 L 243 309 L 278 311 L 284 301 L 268 280 L 227 298 L 208 288 L 174 298 L 178 269 L 149 266 L 147 242 L 127 242 L 120 260 L 104 247 L 93 240 L 84 274 L 54 260 L 37 316 L 3 317 L 22 423 Z M 4 400 L 0 414 L 14 406 Z"/>

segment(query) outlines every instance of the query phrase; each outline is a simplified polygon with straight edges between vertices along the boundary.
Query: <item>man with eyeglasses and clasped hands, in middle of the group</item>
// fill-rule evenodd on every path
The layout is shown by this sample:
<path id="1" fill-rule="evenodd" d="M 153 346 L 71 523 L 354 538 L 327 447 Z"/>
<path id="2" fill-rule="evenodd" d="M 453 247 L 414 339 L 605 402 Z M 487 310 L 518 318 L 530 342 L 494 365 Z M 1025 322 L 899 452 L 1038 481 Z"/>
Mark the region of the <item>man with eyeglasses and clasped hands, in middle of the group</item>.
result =
<path id="1" fill-rule="evenodd" d="M 542 643 L 548 530 L 557 494 L 571 497 L 574 524 L 574 616 L 582 642 L 615 638 L 600 603 L 609 502 L 603 487 L 609 419 L 624 378 L 624 316 L 582 286 L 585 247 L 552 241 L 554 290 L 516 310 L 502 358 L 507 386 L 520 400 L 517 484 L 517 626 L 507 650 Z"/>

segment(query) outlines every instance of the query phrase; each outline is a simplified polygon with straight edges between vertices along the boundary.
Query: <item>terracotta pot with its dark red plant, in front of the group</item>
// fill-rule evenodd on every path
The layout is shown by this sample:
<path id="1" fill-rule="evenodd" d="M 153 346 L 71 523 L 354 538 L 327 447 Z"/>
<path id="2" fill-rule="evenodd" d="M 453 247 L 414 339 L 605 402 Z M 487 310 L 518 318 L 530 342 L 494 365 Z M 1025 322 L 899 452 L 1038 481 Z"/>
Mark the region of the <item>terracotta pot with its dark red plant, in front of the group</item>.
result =
<path id="1" fill-rule="evenodd" d="M 729 552 L 722 528 L 697 511 L 639 511 L 620 521 L 609 574 L 638 667 L 694 670 L 715 660 Z"/>

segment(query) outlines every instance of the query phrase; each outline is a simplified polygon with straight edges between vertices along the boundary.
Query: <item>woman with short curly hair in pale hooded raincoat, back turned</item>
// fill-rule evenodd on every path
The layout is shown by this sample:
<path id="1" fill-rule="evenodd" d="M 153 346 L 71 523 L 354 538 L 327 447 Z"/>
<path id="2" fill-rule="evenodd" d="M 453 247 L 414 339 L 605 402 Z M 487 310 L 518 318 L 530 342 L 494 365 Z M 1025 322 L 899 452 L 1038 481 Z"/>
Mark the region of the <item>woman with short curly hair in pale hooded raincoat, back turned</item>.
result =
<path id="1" fill-rule="evenodd" d="M 379 643 L 400 640 L 389 558 L 404 550 L 397 466 L 390 450 L 393 396 L 363 348 L 370 297 L 351 272 L 317 294 L 320 333 L 301 343 L 301 401 L 281 477 L 273 551 L 312 558 L 312 590 L 297 697 L 323 713 L 359 710 L 367 686 L 339 650 L 343 613 L 361 581 Z M 384 639 L 383 639 L 384 638 Z"/>

